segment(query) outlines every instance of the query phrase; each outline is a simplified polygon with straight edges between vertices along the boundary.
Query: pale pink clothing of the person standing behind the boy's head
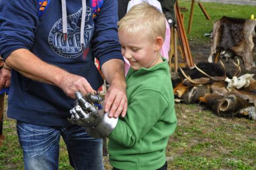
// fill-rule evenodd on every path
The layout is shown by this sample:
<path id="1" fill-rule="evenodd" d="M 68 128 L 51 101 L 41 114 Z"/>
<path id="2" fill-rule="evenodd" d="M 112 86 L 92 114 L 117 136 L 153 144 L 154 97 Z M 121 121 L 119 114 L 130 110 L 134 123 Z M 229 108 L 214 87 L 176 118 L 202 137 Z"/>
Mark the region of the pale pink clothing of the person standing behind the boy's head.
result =
<path id="1" fill-rule="evenodd" d="M 127 11 L 129 11 L 130 8 L 133 5 L 139 4 L 141 2 L 143 2 L 143 0 L 131 0 L 131 1 L 129 1 L 128 7 L 127 7 Z M 151 5 L 156 6 L 162 12 L 161 4 L 157 0 L 147 0 L 146 2 L 148 2 Z M 165 26 L 166 26 L 165 41 L 164 41 L 163 47 L 161 49 L 161 55 L 165 59 L 169 60 L 169 50 L 170 50 L 170 41 L 171 41 L 171 29 L 170 29 L 170 26 L 169 26 L 169 24 L 168 24 L 166 19 L 165 19 Z M 129 61 L 124 58 L 125 76 L 127 75 L 127 72 L 129 70 L 130 66 L 131 65 L 130 65 Z"/>

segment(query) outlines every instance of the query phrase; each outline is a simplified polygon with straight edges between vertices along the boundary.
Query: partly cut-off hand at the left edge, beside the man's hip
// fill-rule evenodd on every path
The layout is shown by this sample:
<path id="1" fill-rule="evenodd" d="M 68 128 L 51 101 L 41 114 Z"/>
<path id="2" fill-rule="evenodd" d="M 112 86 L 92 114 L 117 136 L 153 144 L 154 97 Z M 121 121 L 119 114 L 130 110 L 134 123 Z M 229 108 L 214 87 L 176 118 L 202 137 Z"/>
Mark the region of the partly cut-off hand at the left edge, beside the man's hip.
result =
<path id="1" fill-rule="evenodd" d="M 11 83 L 11 69 L 5 66 L 0 70 L 0 90 L 9 87 Z"/>

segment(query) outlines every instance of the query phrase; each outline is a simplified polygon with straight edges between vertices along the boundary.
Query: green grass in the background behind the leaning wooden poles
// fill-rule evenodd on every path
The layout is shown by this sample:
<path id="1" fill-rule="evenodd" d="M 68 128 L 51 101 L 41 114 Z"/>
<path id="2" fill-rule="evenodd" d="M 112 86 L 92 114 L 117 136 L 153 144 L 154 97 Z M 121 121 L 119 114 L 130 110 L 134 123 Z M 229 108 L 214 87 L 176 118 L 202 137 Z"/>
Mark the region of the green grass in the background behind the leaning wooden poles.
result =
<path id="1" fill-rule="evenodd" d="M 243 18 L 243 19 L 250 19 L 251 14 L 254 14 L 254 16 L 256 16 L 256 6 L 230 5 L 230 4 L 220 4 L 220 3 L 207 3 L 207 2 L 201 2 L 201 3 L 203 4 L 206 12 L 209 14 L 213 22 L 222 18 L 223 15 L 227 17 Z M 184 6 L 184 7 L 187 7 L 188 9 L 188 12 L 182 12 L 185 16 L 184 25 L 187 33 L 191 2 L 182 0 L 182 1 L 179 1 L 179 6 L 180 7 Z M 204 33 L 209 33 L 212 29 L 213 29 L 212 22 L 205 18 L 200 7 L 197 5 L 197 3 L 195 3 L 191 32 L 190 34 L 187 35 L 188 39 L 194 40 L 196 42 L 207 42 L 209 41 L 209 37 L 204 37 Z"/>

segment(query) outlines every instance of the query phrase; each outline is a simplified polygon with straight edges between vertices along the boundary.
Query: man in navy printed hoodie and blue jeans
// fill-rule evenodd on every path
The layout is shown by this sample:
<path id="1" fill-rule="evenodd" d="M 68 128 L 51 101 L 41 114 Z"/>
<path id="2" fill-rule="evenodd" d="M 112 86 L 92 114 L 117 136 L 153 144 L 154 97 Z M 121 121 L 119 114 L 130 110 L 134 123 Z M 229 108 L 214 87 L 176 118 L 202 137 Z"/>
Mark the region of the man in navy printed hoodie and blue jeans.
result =
<path id="1" fill-rule="evenodd" d="M 100 6 L 100 7 L 99 7 Z M 0 1 L 0 51 L 12 68 L 7 115 L 17 119 L 25 169 L 58 169 L 60 135 L 75 169 L 103 169 L 102 141 L 67 118 L 75 92 L 110 84 L 109 117 L 125 116 L 116 0 Z"/>

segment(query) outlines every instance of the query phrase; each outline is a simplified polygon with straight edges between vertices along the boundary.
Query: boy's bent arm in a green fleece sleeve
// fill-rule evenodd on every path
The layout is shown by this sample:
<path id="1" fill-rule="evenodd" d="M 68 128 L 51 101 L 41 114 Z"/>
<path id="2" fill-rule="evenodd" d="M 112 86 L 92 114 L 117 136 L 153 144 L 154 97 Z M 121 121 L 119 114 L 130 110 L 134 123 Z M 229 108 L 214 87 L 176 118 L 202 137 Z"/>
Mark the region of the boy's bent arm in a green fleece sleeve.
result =
<path id="1" fill-rule="evenodd" d="M 167 107 L 169 104 L 161 92 L 138 92 L 129 104 L 125 121 L 118 119 L 114 131 L 108 138 L 126 147 L 132 147 L 150 131 Z"/>

